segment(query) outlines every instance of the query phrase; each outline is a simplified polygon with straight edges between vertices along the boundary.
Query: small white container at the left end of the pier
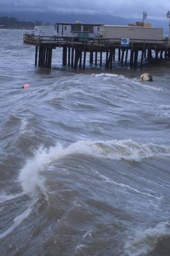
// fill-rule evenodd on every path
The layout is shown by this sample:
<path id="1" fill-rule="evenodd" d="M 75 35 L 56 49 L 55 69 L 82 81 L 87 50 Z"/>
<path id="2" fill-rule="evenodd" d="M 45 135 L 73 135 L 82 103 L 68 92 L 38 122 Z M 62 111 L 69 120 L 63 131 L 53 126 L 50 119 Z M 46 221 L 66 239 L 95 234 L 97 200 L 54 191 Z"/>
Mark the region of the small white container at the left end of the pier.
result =
<path id="1" fill-rule="evenodd" d="M 54 26 L 35 26 L 34 36 L 55 36 L 56 31 Z"/>

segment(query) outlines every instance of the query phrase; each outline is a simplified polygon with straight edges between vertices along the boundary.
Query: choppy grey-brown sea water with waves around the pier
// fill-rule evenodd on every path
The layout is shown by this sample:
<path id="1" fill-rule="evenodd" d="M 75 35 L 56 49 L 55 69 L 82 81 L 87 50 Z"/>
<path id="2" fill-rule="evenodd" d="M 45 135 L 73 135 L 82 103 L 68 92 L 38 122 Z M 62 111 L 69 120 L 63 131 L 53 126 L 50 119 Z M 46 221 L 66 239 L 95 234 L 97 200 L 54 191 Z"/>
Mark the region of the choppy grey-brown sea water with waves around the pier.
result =
<path id="1" fill-rule="evenodd" d="M 1 255 L 169 255 L 170 64 L 35 68 L 24 32 L 0 29 Z"/>

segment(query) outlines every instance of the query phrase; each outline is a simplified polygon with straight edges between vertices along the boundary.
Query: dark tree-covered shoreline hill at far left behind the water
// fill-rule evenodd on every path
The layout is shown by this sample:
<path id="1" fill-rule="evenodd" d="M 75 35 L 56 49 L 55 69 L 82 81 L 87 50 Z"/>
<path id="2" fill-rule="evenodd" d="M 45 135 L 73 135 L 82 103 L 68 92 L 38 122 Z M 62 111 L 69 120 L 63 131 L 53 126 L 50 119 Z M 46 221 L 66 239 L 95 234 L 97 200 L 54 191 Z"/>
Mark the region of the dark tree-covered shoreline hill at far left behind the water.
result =
<path id="1" fill-rule="evenodd" d="M 35 25 L 41 24 L 40 22 L 32 22 L 32 21 L 18 21 L 15 17 L 0 17 L 0 25 L 3 25 L 1 28 L 8 29 L 34 29 Z"/>

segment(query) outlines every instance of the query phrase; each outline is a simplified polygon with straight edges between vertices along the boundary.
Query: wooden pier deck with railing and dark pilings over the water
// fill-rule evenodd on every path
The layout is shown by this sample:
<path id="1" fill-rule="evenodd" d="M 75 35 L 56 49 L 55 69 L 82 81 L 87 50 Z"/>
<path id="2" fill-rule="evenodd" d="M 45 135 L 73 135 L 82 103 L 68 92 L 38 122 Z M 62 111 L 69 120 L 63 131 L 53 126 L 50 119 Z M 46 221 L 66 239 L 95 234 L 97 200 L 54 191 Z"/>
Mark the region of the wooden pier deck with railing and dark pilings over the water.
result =
<path id="1" fill-rule="evenodd" d="M 35 66 L 51 68 L 52 51 L 62 47 L 62 65 L 85 70 L 87 54 L 89 64 L 112 69 L 115 60 L 131 68 L 143 67 L 144 61 L 170 60 L 167 40 L 132 40 L 122 47 L 120 38 L 75 38 L 69 36 L 24 35 L 25 45 L 34 45 Z"/>

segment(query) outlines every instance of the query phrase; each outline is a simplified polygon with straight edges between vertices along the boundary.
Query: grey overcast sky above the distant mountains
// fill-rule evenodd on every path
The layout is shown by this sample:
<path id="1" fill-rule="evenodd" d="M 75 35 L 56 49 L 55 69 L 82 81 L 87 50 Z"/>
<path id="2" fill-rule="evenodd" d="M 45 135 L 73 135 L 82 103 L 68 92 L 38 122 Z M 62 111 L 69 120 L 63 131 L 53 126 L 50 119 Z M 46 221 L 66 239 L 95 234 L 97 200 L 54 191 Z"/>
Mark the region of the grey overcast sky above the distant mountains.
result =
<path id="1" fill-rule="evenodd" d="M 141 17 L 143 10 L 149 19 L 167 19 L 170 0 L 0 0 L 1 12 L 22 10 L 109 14 L 120 17 Z"/>

